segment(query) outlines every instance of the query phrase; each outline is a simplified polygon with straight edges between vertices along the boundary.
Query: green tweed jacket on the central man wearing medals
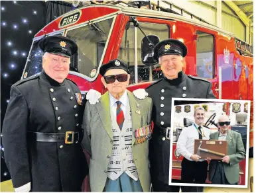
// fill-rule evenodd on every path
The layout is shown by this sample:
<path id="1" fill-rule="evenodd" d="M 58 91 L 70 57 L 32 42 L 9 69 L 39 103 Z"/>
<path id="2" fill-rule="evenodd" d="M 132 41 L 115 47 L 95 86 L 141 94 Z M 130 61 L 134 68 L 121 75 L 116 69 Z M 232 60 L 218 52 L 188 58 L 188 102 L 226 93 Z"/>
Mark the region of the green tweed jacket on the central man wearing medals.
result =
<path id="1" fill-rule="evenodd" d="M 133 125 L 133 160 L 137 167 L 139 180 L 144 192 L 149 192 L 151 178 L 149 173 L 149 142 L 135 145 L 136 129 L 151 124 L 152 99 L 139 100 L 127 91 Z M 138 110 L 140 113 L 138 114 Z M 105 93 L 96 104 L 86 103 L 83 119 L 84 139 L 82 144 L 90 153 L 90 187 L 92 192 L 102 192 L 107 181 L 107 166 L 113 147 L 109 93 Z"/>

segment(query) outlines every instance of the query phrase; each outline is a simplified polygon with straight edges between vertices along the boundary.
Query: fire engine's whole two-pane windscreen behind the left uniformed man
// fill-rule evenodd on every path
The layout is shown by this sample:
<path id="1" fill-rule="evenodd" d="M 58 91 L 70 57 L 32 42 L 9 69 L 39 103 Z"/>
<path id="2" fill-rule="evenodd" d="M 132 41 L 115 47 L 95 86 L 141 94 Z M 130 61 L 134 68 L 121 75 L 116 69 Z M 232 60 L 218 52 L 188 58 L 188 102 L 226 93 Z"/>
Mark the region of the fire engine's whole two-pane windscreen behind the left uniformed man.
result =
<path id="1" fill-rule="evenodd" d="M 86 26 L 68 30 L 66 36 L 78 44 L 78 53 L 71 58 L 70 71 L 82 73 L 87 77 L 93 78 L 93 69 L 98 69 L 103 52 L 105 50 L 107 37 L 109 37 L 113 17 L 105 20 L 89 22 Z M 58 34 L 62 35 L 62 33 Z M 27 60 L 27 65 L 23 78 L 31 77 L 42 71 L 43 52 L 36 40 L 32 44 L 32 49 Z"/>

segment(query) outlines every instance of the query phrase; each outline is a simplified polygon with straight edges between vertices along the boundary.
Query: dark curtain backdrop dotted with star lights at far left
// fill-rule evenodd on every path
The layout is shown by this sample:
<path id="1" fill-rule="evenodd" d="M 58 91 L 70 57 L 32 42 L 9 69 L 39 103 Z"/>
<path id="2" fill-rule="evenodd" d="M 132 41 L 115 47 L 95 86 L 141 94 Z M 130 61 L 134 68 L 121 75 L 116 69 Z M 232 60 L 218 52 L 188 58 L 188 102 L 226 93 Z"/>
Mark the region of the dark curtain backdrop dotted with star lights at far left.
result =
<path id="1" fill-rule="evenodd" d="M 1 128 L 11 85 L 21 79 L 34 35 L 71 8 L 61 1 L 1 1 Z M 1 182 L 10 178 L 2 157 L 3 151 Z"/>

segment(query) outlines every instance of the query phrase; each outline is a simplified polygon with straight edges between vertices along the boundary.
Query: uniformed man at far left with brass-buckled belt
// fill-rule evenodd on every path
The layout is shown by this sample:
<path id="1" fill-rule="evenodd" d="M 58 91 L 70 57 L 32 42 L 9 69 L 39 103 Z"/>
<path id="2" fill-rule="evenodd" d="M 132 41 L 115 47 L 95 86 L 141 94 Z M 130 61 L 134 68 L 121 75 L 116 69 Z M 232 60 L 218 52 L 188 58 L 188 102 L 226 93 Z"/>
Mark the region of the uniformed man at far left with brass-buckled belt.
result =
<path id="1" fill-rule="evenodd" d="M 11 87 L 3 122 L 5 161 L 15 192 L 80 191 L 88 165 L 80 145 L 84 106 L 66 79 L 76 43 L 63 36 L 40 40 L 43 70 Z"/>

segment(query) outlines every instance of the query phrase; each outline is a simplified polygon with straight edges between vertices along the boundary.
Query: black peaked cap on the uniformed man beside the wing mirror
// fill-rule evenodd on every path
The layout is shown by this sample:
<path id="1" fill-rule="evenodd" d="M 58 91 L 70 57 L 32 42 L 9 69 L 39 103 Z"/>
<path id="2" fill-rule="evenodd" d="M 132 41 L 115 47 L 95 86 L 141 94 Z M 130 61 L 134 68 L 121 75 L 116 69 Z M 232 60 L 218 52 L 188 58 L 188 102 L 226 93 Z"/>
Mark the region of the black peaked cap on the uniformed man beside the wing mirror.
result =
<path id="1" fill-rule="evenodd" d="M 154 58 L 159 59 L 164 55 L 180 55 L 185 57 L 187 49 L 185 44 L 175 39 L 167 39 L 159 42 L 154 48 Z"/>

